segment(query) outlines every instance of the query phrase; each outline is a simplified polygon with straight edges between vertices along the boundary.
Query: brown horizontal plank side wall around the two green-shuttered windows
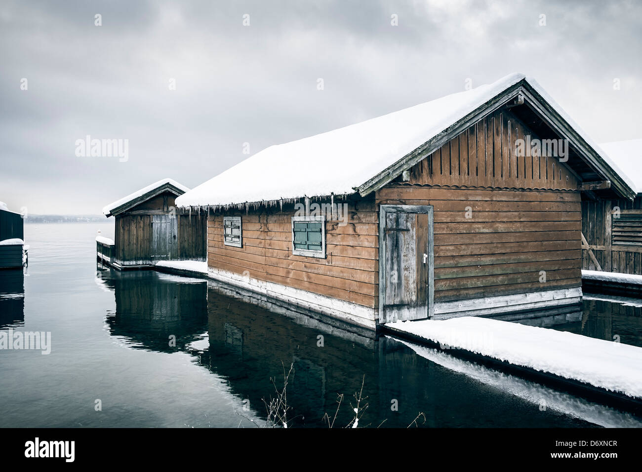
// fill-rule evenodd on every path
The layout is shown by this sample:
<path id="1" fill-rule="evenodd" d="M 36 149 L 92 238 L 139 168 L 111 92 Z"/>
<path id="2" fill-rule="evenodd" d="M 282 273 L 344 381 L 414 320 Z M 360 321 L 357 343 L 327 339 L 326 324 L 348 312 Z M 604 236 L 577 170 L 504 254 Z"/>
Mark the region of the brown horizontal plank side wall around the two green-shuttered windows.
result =
<path id="1" fill-rule="evenodd" d="M 223 214 L 211 213 L 207 222 L 208 264 L 374 308 L 379 303 L 379 215 L 374 198 L 346 204 L 345 220 L 326 217 L 325 259 L 292 255 L 293 205 L 284 205 L 283 211 L 226 212 L 225 216 L 241 216 L 243 247 L 223 244 Z"/>

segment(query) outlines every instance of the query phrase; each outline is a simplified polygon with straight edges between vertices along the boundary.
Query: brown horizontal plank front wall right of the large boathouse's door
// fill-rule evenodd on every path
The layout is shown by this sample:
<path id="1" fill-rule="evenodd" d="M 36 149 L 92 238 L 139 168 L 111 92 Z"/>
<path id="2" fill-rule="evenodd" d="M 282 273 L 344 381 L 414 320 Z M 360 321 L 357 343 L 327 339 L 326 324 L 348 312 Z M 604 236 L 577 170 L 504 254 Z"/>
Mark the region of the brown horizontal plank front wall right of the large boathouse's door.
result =
<path id="1" fill-rule="evenodd" d="M 400 185 L 376 202 L 433 205 L 435 301 L 582 285 L 578 192 Z"/>

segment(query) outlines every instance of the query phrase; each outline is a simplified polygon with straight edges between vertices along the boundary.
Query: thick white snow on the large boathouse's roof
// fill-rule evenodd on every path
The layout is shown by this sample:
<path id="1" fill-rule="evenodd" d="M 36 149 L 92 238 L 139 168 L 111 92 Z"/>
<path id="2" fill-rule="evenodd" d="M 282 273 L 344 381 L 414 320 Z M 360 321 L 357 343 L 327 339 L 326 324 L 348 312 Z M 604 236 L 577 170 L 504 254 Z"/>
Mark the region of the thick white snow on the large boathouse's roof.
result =
<path id="1" fill-rule="evenodd" d="M 490 85 L 270 146 L 181 195 L 176 204 L 180 207 L 238 205 L 354 193 L 404 156 L 522 81 L 599 153 L 587 135 L 535 80 L 515 73 Z M 611 164 L 608 157 L 600 155 Z"/>

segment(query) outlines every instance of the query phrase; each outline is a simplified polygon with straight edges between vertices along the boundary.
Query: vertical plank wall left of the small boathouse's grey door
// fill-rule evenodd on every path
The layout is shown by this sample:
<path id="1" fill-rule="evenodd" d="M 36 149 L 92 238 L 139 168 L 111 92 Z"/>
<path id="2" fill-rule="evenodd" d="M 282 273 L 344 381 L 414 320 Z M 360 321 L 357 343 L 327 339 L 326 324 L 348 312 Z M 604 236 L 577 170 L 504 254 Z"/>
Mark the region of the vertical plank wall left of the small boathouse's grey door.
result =
<path id="1" fill-rule="evenodd" d="M 123 265 L 152 263 L 152 216 L 122 214 L 116 216 L 116 262 Z"/>

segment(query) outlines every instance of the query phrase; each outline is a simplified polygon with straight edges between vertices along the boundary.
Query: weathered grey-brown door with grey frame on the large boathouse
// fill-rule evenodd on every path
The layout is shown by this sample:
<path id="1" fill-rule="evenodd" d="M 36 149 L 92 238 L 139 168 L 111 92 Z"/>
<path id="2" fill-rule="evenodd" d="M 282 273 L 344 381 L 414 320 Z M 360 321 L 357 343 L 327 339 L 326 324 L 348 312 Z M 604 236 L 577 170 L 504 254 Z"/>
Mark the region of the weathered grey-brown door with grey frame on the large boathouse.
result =
<path id="1" fill-rule="evenodd" d="M 433 207 L 381 205 L 379 322 L 421 320 L 433 312 Z"/>

